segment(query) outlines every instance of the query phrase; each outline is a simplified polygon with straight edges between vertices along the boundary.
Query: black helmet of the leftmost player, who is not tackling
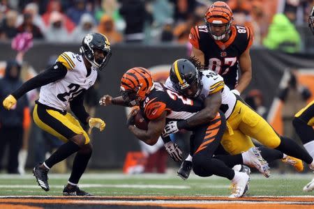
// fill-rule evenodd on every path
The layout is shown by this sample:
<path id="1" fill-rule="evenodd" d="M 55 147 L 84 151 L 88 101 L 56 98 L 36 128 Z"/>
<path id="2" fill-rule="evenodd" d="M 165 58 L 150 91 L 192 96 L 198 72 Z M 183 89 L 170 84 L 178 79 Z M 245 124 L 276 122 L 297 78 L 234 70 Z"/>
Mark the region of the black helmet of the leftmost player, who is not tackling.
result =
<path id="1" fill-rule="evenodd" d="M 100 49 L 103 52 L 103 59 L 95 59 L 95 49 Z M 101 33 L 88 33 L 82 40 L 80 52 L 91 65 L 98 70 L 103 70 L 111 56 L 110 42 L 107 37 Z"/>

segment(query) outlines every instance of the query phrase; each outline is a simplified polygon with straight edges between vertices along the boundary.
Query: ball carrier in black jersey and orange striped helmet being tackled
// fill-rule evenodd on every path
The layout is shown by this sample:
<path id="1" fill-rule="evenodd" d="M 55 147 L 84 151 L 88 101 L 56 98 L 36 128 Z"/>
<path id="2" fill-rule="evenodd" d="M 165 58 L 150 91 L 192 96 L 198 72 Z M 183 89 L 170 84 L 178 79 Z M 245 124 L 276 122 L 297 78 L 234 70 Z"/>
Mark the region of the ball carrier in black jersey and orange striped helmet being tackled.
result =
<path id="1" fill-rule="evenodd" d="M 220 86 L 217 86 L 215 90 L 219 94 Z M 197 114 L 197 111 L 200 111 L 203 106 L 200 101 L 184 98 L 182 95 L 165 88 L 163 84 L 154 83 L 150 72 L 145 68 L 132 68 L 124 73 L 121 78 L 121 95 L 117 98 L 105 95 L 100 99 L 100 104 L 140 105 L 144 117 L 149 119 L 148 129 L 141 130 L 133 125 L 132 121 L 137 114 L 136 110 L 131 112 L 128 118 L 128 129 L 138 139 L 151 145 L 156 143 L 163 132 L 166 118 L 172 120 L 190 118 Z M 216 110 L 218 111 L 218 109 Z M 225 116 L 221 111 L 218 111 L 211 120 L 204 120 L 186 128 L 193 131 L 190 143 L 193 149 L 194 173 L 202 177 L 216 175 L 228 178 L 232 181 L 234 188 L 230 197 L 236 198 L 244 194 L 248 174 L 234 171 L 227 167 L 223 160 L 213 157 L 225 127 Z M 257 148 L 230 156 L 229 160 L 234 164 L 243 164 L 246 161 L 246 164 L 256 167 L 262 173 L 267 173 L 269 169 L 267 162 L 262 159 Z"/>

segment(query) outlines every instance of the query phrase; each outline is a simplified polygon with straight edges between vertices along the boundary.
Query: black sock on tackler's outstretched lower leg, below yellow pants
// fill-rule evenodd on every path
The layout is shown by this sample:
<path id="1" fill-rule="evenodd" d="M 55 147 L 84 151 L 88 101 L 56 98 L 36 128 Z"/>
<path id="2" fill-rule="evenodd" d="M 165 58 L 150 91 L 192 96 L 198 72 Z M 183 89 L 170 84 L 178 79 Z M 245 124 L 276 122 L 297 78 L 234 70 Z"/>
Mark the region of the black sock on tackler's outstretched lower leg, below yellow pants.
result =
<path id="1" fill-rule="evenodd" d="M 311 155 L 309 155 L 304 148 L 301 148 L 299 144 L 287 137 L 281 137 L 281 144 L 276 147 L 276 150 L 280 150 L 286 155 L 297 157 L 298 159 L 306 162 L 306 164 L 311 164 L 311 162 L 313 161 Z"/>

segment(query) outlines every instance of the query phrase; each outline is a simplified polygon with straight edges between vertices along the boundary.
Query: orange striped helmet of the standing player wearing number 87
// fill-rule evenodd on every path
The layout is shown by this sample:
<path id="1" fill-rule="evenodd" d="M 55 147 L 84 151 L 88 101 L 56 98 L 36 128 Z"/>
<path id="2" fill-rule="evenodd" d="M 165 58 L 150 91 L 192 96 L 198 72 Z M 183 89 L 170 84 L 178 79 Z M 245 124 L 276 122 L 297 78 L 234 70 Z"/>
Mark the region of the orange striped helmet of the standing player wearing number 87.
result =
<path id="1" fill-rule="evenodd" d="M 222 40 L 230 33 L 230 26 L 233 20 L 233 14 L 227 3 L 216 1 L 211 4 L 205 14 L 205 22 L 209 33 L 215 40 Z M 213 31 L 212 26 L 225 26 L 224 31 Z"/>

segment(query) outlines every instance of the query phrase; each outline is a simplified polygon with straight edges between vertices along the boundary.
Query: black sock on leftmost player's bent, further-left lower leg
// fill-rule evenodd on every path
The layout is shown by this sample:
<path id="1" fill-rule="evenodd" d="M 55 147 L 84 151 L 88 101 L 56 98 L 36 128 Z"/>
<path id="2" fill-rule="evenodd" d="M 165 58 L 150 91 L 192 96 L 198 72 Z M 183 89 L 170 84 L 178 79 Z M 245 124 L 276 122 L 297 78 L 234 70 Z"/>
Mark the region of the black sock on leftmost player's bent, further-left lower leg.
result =
<path id="1" fill-rule="evenodd" d="M 47 160 L 45 160 L 45 164 L 47 167 L 51 168 L 54 164 L 61 162 L 78 150 L 80 150 L 80 146 L 73 141 L 68 141 L 66 144 L 61 145 Z"/>

